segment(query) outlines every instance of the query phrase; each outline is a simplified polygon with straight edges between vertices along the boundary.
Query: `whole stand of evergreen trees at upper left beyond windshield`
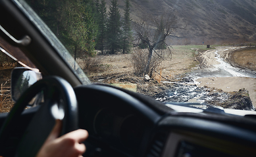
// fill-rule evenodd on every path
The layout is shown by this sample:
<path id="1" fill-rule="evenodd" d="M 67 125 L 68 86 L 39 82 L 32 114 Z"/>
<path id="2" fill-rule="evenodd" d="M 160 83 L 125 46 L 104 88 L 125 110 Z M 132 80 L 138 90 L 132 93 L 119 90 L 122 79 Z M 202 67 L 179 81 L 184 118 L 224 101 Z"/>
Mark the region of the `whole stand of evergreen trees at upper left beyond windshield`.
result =
<path id="1" fill-rule="evenodd" d="M 130 2 L 124 17 L 117 0 L 109 11 L 105 0 L 28 0 L 27 3 L 76 58 L 100 54 L 129 53 L 132 46 Z"/>

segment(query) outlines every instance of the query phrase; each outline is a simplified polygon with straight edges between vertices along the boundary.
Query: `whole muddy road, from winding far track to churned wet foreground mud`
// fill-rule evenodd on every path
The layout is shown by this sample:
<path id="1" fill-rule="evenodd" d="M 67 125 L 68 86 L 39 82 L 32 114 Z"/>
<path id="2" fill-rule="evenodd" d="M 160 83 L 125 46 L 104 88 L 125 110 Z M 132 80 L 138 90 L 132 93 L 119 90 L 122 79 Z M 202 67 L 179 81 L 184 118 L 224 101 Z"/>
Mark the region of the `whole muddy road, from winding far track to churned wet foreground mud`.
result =
<path id="1" fill-rule="evenodd" d="M 157 99 L 254 111 L 256 73 L 235 66 L 236 63 L 230 60 L 232 52 L 243 48 L 245 47 L 220 46 L 201 52 L 197 57 L 199 66 L 176 82 L 164 81 L 164 84 L 172 86 L 167 96 Z"/>

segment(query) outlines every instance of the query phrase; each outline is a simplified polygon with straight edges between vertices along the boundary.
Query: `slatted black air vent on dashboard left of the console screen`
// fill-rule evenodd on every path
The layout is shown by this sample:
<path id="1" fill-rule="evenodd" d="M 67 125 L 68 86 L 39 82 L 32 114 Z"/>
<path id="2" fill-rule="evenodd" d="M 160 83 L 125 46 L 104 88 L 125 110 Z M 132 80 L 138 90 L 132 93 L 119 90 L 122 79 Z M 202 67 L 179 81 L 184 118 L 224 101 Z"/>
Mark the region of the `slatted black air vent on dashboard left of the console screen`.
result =
<path id="1" fill-rule="evenodd" d="M 153 143 L 147 152 L 147 157 L 160 157 L 163 152 L 163 148 L 165 147 L 166 139 L 166 132 L 156 133 L 153 139 Z"/>

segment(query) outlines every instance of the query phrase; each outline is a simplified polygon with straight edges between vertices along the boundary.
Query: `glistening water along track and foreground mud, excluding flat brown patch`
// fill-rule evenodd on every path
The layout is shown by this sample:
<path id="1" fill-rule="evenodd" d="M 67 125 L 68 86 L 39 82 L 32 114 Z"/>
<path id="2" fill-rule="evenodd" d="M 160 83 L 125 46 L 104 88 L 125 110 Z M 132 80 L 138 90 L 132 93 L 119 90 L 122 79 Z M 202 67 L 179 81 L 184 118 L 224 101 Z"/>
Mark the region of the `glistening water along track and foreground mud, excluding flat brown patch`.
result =
<path id="1" fill-rule="evenodd" d="M 157 100 L 163 102 L 205 104 L 209 104 L 211 101 L 227 101 L 228 97 L 230 97 L 227 92 L 223 92 L 215 88 L 199 86 L 201 82 L 198 82 L 197 79 L 211 79 L 219 77 L 225 77 L 226 79 L 229 79 L 230 77 L 256 78 L 255 71 L 233 67 L 227 61 L 230 52 L 241 48 L 243 47 L 221 46 L 214 50 L 207 50 L 203 52 L 199 56 L 201 58 L 201 65 L 188 73 L 186 77 L 178 79 L 177 82 L 163 82 L 164 84 L 172 84 L 172 86 L 170 86 L 167 92 L 168 94 L 158 97 Z M 253 105 L 246 108 L 246 110 L 255 109 Z"/>

